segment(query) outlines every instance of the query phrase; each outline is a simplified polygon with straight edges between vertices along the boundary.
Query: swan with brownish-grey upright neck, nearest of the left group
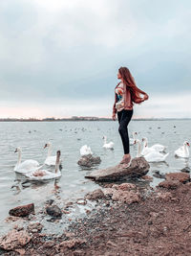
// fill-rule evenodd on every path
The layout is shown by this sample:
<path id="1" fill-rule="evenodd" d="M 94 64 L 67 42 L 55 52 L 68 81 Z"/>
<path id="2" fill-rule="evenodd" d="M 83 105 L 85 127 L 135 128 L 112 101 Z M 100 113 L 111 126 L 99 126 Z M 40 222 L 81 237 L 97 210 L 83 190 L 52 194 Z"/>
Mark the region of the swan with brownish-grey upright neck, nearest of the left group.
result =
<path id="1" fill-rule="evenodd" d="M 40 169 L 37 168 L 36 170 L 32 171 L 31 173 L 26 174 L 25 176 L 29 180 L 49 180 L 49 179 L 54 179 L 58 178 L 61 176 L 61 173 L 59 171 L 59 159 L 60 159 L 60 151 L 56 152 L 56 160 L 55 160 L 55 173 L 47 171 L 46 169 Z"/>

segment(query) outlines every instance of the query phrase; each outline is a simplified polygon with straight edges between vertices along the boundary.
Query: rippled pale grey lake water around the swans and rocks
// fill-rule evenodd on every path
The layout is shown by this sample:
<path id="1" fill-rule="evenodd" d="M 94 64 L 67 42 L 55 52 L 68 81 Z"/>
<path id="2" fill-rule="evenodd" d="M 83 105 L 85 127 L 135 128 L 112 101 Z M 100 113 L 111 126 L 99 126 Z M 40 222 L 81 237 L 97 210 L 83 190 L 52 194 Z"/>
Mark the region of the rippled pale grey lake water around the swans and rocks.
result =
<path id="1" fill-rule="evenodd" d="M 175 126 L 175 127 L 174 127 Z M 132 121 L 129 125 L 130 134 L 138 132 L 138 138 L 148 138 L 149 145 L 159 143 L 168 147 L 169 156 L 166 163 L 151 163 L 148 175 L 155 171 L 162 174 L 177 172 L 190 166 L 190 159 L 175 158 L 174 151 L 183 141 L 190 141 L 191 120 L 175 121 Z M 42 203 L 50 198 L 64 205 L 66 201 L 75 201 L 82 198 L 88 191 L 97 187 L 94 181 L 85 179 L 84 176 L 90 170 L 83 170 L 77 165 L 79 149 L 84 144 L 91 147 L 96 155 L 101 157 L 101 164 L 97 168 L 107 168 L 116 165 L 122 157 L 122 144 L 117 131 L 117 122 L 13 122 L 0 123 L 0 228 L 3 232 L 6 228 L 5 218 L 9 216 L 9 210 L 17 205 L 33 202 L 36 209 L 40 209 Z M 115 150 L 102 148 L 103 135 L 108 141 L 115 143 Z M 50 141 L 53 144 L 53 155 L 57 150 L 61 151 L 63 163 L 62 176 L 57 181 L 46 183 L 28 183 L 22 185 L 25 177 L 15 175 L 14 165 L 17 161 L 16 147 L 22 148 L 22 160 L 35 159 L 42 164 L 46 158 L 47 150 L 44 145 Z M 131 154 L 136 156 L 137 146 L 131 146 Z M 155 178 L 151 183 L 156 186 L 161 179 Z M 88 206 L 87 206 L 88 207 Z M 83 209 L 75 209 L 75 212 Z"/>

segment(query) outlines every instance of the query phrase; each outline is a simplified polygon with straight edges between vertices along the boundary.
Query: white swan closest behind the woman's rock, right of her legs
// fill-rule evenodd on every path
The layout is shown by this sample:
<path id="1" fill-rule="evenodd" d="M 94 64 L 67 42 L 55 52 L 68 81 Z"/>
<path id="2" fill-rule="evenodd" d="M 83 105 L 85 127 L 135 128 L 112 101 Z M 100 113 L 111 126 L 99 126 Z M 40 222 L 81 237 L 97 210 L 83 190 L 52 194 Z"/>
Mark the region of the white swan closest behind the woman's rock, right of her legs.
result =
<path id="1" fill-rule="evenodd" d="M 138 154 L 137 157 L 141 156 L 141 146 L 140 146 L 140 141 L 137 139 L 135 144 L 138 144 Z M 144 155 L 144 158 L 146 159 L 147 162 L 164 162 L 166 157 L 168 156 L 169 153 L 162 154 L 158 151 L 150 151 L 146 155 Z"/>

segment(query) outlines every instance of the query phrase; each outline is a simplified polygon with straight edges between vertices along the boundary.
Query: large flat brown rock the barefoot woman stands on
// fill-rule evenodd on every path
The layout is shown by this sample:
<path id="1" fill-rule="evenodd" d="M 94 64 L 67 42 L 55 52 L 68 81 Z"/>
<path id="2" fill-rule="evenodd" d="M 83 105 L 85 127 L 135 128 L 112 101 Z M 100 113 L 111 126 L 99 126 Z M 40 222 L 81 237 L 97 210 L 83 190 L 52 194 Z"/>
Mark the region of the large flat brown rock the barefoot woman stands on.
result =
<path id="1" fill-rule="evenodd" d="M 115 181 L 124 177 L 140 177 L 149 172 L 149 164 L 144 157 L 136 157 L 132 159 L 131 165 L 128 168 L 117 165 L 103 170 L 96 170 L 87 178 L 93 178 L 97 181 Z"/>

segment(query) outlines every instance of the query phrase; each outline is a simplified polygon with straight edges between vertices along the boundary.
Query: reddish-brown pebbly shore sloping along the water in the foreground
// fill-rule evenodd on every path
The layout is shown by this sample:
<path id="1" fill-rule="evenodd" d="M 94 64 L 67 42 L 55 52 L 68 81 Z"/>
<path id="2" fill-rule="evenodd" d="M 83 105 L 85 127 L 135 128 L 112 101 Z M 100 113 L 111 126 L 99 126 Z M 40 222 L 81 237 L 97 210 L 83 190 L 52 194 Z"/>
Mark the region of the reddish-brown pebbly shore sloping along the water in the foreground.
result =
<path id="1" fill-rule="evenodd" d="M 95 209 L 87 217 L 73 221 L 62 234 L 46 235 L 36 227 L 28 233 L 29 243 L 1 253 L 7 256 L 188 255 L 191 253 L 191 182 L 190 178 L 184 178 L 185 174 L 179 174 L 171 175 L 172 179 L 166 177 L 154 191 L 148 187 L 136 200 L 132 197 L 140 191 L 135 183 L 107 183 L 104 196 L 100 192 L 92 194 Z M 131 201 L 111 198 L 114 189 L 122 193 L 120 196 L 130 195 L 133 190 Z"/>

